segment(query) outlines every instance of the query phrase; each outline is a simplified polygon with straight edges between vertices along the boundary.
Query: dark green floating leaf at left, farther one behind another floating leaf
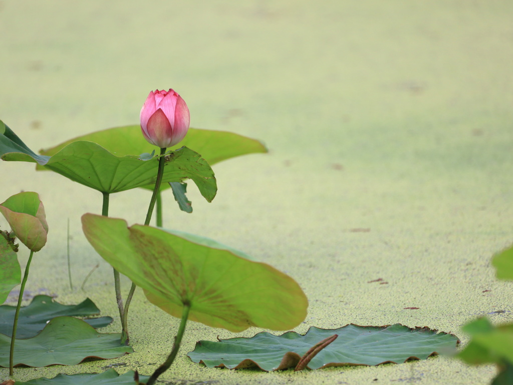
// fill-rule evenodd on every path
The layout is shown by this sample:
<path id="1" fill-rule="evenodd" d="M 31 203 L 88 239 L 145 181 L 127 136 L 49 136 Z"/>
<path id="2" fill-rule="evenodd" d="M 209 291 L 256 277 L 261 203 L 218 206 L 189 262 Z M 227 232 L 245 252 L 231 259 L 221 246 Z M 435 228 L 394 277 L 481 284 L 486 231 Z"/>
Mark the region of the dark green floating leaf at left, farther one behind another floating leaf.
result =
<path id="1" fill-rule="evenodd" d="M 11 336 L 14 322 L 15 306 L 0 306 L 0 330 Z M 89 298 L 78 305 L 62 305 L 48 295 L 36 295 L 28 306 L 19 309 L 16 338 L 30 338 L 41 332 L 47 322 L 60 316 L 92 316 L 100 313 L 100 309 Z M 84 319 L 93 328 L 104 328 L 112 322 L 111 317 Z"/>

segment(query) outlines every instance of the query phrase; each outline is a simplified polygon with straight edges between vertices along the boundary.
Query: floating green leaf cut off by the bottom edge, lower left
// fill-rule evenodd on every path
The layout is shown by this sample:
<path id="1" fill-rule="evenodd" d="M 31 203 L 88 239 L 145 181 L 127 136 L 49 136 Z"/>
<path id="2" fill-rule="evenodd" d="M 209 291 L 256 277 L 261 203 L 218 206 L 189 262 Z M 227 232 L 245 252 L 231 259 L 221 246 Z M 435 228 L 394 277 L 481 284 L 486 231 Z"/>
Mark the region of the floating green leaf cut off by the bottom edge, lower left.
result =
<path id="1" fill-rule="evenodd" d="M 114 369 L 99 374 L 57 374 L 53 378 L 36 378 L 27 382 L 16 381 L 16 385 L 134 385 L 133 370 L 121 376 Z M 139 375 L 141 382 L 146 382 L 149 376 Z"/>

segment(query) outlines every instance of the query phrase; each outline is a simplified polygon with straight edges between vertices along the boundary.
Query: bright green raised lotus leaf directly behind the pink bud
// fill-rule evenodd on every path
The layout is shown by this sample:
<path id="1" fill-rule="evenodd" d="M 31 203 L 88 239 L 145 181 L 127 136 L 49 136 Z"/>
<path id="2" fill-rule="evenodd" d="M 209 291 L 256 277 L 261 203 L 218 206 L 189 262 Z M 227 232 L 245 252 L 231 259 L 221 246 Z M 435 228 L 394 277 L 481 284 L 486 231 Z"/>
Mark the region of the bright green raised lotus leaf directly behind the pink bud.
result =
<path id="1" fill-rule="evenodd" d="M 141 126 L 125 126 L 92 132 L 87 135 L 65 141 L 50 149 L 41 150 L 42 155 L 54 155 L 76 140 L 88 140 L 105 147 L 117 156 L 139 155 L 151 152 L 155 146 L 150 145 L 141 133 Z M 201 156 L 209 165 L 234 156 L 255 152 L 267 152 L 260 141 L 226 131 L 202 130 L 189 128 L 187 135 L 178 147 L 185 146 Z M 38 166 L 40 168 L 40 166 Z"/>

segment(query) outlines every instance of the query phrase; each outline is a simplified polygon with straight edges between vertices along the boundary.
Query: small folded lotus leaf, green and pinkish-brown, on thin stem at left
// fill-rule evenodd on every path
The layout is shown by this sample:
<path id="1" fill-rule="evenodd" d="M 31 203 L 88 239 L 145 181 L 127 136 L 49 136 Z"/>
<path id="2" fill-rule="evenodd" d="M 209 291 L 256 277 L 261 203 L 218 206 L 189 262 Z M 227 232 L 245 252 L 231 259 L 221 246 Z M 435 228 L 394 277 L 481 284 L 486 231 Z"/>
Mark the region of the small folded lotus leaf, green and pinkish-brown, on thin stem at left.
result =
<path id="1" fill-rule="evenodd" d="M 0 205 L 16 237 L 30 250 L 40 251 L 46 244 L 48 224 L 45 208 L 35 192 L 21 192 Z"/>

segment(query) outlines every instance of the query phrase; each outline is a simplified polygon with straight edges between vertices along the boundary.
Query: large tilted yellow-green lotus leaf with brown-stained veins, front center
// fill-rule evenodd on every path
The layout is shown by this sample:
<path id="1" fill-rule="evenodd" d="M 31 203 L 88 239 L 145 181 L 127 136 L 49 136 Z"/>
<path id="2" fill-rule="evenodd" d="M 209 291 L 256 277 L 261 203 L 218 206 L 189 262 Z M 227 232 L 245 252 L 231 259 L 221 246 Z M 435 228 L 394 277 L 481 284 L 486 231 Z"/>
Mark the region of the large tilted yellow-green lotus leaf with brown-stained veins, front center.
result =
<path id="1" fill-rule="evenodd" d="M 240 332 L 251 326 L 286 330 L 306 316 L 298 283 L 218 242 L 172 234 L 101 215 L 82 216 L 90 244 L 116 270 L 144 289 L 150 302 L 175 317 Z"/>

